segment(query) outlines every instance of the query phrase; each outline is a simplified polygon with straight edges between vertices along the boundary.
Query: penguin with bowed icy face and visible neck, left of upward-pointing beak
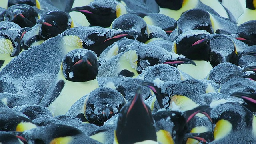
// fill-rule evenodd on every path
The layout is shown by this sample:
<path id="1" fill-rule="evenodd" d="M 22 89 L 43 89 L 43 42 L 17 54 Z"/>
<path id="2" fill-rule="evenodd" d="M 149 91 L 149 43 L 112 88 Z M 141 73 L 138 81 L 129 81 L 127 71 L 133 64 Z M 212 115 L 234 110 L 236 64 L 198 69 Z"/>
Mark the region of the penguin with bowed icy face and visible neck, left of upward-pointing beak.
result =
<path id="1" fill-rule="evenodd" d="M 74 116 L 82 122 L 102 126 L 107 120 L 118 115 L 127 100 L 113 88 L 96 88 L 77 100 L 66 115 Z"/>

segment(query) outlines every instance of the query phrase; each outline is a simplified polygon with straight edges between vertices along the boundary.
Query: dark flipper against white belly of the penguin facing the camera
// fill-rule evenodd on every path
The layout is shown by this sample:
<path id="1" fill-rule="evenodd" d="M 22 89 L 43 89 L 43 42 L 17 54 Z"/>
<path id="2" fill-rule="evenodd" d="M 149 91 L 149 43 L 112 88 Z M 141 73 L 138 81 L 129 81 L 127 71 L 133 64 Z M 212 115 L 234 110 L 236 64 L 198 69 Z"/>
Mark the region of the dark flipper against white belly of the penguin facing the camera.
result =
<path id="1" fill-rule="evenodd" d="M 58 81 L 54 87 L 50 88 L 50 90 L 46 92 L 39 105 L 44 107 L 50 106 L 50 104 L 60 95 L 64 85 L 64 80 Z"/>

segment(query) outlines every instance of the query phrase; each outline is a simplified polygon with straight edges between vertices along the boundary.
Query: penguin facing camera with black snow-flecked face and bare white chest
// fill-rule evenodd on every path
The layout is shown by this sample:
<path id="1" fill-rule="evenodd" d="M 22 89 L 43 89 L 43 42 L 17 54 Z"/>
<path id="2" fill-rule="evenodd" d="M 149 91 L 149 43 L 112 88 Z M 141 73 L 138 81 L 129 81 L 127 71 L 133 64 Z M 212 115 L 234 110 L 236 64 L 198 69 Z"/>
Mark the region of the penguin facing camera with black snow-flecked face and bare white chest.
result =
<path id="1" fill-rule="evenodd" d="M 68 112 L 82 96 L 98 88 L 97 56 L 91 50 L 74 49 L 66 55 L 60 71 L 40 101 L 55 116 Z"/>

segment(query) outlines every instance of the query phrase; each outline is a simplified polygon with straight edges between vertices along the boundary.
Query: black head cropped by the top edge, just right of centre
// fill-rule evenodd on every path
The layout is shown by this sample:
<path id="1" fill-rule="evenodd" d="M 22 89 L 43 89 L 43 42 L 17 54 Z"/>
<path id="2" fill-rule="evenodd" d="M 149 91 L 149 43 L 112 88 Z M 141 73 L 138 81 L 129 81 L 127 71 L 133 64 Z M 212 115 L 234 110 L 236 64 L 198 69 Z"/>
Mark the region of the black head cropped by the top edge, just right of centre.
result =
<path id="1" fill-rule="evenodd" d="M 179 10 L 182 7 L 183 0 L 156 0 L 160 8 Z"/>

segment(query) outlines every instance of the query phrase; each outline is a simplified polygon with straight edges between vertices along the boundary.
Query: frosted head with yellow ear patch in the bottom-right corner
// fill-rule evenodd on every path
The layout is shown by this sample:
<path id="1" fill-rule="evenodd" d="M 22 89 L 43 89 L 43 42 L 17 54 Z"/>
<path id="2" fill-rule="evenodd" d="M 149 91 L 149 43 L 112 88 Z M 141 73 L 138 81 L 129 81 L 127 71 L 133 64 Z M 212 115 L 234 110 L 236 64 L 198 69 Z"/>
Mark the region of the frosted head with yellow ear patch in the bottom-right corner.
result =
<path id="1" fill-rule="evenodd" d="M 232 132 L 255 128 L 255 116 L 250 110 L 235 102 L 220 104 L 210 111 L 214 123 L 214 140 L 222 139 Z"/>

